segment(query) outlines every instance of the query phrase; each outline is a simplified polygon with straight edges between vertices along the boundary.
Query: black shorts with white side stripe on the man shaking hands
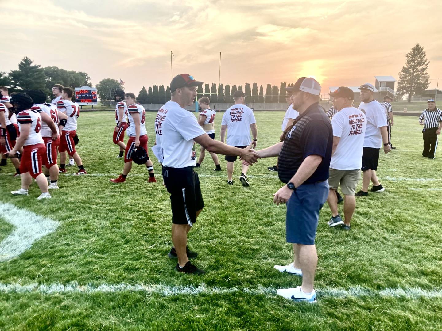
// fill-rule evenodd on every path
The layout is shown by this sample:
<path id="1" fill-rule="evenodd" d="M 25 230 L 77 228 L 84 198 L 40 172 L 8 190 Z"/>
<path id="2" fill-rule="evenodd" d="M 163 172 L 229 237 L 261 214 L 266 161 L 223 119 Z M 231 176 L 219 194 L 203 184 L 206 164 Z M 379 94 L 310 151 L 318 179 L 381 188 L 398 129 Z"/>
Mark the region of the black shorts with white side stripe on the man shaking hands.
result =
<path id="1" fill-rule="evenodd" d="M 204 208 L 198 174 L 193 167 L 163 167 L 163 180 L 170 193 L 172 223 L 192 226 L 196 212 Z"/>

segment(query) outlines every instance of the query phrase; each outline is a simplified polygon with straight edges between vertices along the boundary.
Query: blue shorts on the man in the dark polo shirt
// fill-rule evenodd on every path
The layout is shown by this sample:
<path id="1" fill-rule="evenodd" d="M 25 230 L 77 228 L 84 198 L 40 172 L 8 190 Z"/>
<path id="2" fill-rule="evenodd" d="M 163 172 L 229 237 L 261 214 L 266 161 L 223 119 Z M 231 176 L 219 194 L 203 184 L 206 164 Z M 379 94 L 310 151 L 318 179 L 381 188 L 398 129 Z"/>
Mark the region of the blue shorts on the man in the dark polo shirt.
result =
<path id="1" fill-rule="evenodd" d="M 287 201 L 286 240 L 292 244 L 314 245 L 319 211 L 327 201 L 328 182 L 302 184 Z"/>

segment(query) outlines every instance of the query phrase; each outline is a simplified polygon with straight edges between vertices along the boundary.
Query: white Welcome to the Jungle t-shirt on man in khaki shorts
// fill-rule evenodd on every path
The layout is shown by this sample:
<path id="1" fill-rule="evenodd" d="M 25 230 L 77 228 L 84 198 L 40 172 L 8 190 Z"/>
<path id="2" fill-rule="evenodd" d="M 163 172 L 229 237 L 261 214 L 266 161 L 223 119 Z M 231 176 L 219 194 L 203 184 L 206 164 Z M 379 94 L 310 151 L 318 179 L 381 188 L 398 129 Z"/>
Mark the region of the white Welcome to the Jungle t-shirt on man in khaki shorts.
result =
<path id="1" fill-rule="evenodd" d="M 354 107 L 343 108 L 333 115 L 333 136 L 340 139 L 335 153 L 331 155 L 331 169 L 361 169 L 366 124 L 365 114 Z"/>

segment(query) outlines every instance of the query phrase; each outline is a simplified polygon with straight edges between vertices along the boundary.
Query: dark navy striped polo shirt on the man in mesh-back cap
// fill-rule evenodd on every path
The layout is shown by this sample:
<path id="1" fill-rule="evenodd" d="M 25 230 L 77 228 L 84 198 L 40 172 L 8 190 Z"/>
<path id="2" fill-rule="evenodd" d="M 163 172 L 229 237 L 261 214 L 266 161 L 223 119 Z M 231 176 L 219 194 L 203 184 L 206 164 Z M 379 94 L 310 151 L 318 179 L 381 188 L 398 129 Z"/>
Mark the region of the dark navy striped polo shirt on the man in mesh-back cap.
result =
<path id="1" fill-rule="evenodd" d="M 304 116 L 286 135 L 278 157 L 279 179 L 283 183 L 288 183 L 307 156 L 319 155 L 322 157 L 320 165 L 304 183 L 326 181 L 332 147 L 331 122 L 325 114 L 324 108 L 319 105 L 319 102 L 316 102 L 305 110 Z"/>

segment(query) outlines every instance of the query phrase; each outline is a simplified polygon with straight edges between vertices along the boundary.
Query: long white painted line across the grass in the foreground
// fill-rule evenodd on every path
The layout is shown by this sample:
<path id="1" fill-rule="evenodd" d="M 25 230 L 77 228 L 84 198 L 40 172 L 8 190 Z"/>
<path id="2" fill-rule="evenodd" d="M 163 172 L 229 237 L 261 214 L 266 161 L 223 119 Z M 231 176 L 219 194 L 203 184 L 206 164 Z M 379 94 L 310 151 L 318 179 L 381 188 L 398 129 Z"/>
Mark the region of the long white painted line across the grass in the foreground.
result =
<path id="1" fill-rule="evenodd" d="M 198 295 L 198 294 L 225 294 L 225 293 L 249 293 L 253 295 L 276 295 L 276 287 L 258 286 L 255 288 L 248 287 L 217 287 L 206 286 L 202 283 L 199 286 L 170 286 L 165 284 L 159 285 L 145 285 L 135 284 L 130 285 L 126 283 L 121 284 L 101 284 L 81 285 L 77 282 L 68 284 L 54 283 L 54 284 L 38 284 L 32 283 L 28 285 L 21 284 L 4 284 L 0 283 L 1 293 L 43 293 L 43 294 L 57 294 L 57 293 L 117 293 L 117 292 L 142 292 L 142 293 L 156 293 L 168 297 L 173 295 Z M 322 297 L 402 297 L 409 299 L 419 298 L 442 298 L 442 290 L 423 290 L 420 287 L 408 288 L 386 288 L 382 290 L 372 290 L 361 286 L 350 287 L 348 289 L 339 289 L 335 287 L 326 287 L 324 289 L 316 289 L 318 296 Z"/>

